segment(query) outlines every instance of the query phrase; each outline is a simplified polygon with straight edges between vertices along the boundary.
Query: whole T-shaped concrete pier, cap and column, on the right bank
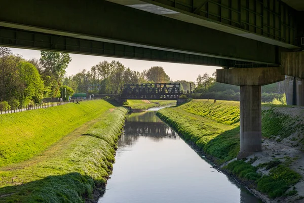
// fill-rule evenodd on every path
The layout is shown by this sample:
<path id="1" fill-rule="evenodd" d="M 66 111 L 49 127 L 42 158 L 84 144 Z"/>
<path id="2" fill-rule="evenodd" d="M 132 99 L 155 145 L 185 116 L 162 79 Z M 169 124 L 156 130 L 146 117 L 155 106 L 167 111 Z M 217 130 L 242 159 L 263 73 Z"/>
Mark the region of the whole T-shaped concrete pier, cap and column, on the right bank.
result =
<path id="1" fill-rule="evenodd" d="M 262 150 L 261 85 L 284 80 L 279 67 L 216 70 L 216 81 L 240 86 L 238 159 Z"/>

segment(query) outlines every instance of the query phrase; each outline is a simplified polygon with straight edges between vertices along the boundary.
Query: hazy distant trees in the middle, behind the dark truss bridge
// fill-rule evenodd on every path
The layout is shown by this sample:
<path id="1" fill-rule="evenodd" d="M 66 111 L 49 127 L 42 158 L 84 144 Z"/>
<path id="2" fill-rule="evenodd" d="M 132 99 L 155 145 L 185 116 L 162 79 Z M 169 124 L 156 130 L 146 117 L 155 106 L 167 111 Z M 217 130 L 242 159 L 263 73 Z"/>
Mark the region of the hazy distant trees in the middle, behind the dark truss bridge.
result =
<path id="1" fill-rule="evenodd" d="M 155 75 L 153 75 L 155 74 Z M 63 84 L 72 87 L 74 92 L 88 94 L 119 93 L 125 84 L 169 82 L 170 78 L 163 67 L 155 66 L 142 73 L 132 71 L 120 61 L 101 61 L 78 74 L 65 77 Z"/>

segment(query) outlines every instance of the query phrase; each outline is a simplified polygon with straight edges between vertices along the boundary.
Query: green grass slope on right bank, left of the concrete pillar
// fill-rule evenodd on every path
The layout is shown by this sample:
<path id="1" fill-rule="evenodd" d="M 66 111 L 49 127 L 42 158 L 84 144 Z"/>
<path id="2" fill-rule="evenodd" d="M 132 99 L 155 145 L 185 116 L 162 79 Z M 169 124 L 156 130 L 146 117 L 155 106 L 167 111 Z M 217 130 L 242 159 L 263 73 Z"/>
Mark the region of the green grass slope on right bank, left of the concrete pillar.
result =
<path id="1" fill-rule="evenodd" d="M 161 109 L 157 115 L 186 141 L 194 143 L 217 163 L 235 158 L 240 151 L 240 120 L 236 101 L 192 100 Z"/>

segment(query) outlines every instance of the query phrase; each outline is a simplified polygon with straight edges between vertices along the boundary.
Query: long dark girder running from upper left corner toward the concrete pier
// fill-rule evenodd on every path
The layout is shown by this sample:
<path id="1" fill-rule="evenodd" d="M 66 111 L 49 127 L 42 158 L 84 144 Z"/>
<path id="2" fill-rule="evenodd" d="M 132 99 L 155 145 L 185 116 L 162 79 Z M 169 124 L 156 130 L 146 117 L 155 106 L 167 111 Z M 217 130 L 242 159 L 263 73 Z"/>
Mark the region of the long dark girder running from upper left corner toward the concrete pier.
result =
<path id="1" fill-rule="evenodd" d="M 279 64 L 280 53 L 289 51 L 107 1 L 31 0 L 24 4 L 24 1 L 16 0 L 14 6 L 5 1 L 2 7 L 6 9 L 0 13 L 0 26 L 125 45 L 126 48 L 263 64 Z M 53 49 L 57 50 L 57 47 Z M 79 53 L 86 52 L 81 50 Z"/>

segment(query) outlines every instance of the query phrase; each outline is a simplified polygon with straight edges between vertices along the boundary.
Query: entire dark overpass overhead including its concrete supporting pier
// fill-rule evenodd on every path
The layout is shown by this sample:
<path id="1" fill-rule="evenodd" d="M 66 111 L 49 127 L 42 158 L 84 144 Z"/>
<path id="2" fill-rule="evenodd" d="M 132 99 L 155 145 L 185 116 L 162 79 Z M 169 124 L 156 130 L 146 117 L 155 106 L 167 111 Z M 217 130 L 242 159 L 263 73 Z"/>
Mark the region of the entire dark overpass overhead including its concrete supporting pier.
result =
<path id="1" fill-rule="evenodd" d="M 284 74 L 297 77 L 296 104 L 304 104 L 301 0 L 14 0 L 1 6 L 0 46 L 224 67 L 217 81 L 241 87 L 239 158 L 261 150 L 261 85 Z"/>

